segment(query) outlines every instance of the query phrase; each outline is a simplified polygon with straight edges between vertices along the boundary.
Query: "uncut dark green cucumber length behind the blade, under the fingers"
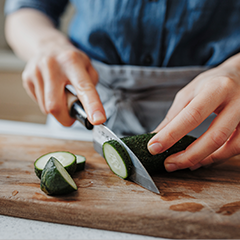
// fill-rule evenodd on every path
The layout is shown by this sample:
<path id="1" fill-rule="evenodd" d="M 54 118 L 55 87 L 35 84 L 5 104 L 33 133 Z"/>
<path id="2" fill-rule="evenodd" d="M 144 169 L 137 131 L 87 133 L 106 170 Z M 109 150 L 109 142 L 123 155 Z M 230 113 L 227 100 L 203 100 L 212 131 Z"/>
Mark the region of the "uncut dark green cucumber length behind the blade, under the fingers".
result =
<path id="1" fill-rule="evenodd" d="M 152 155 L 147 149 L 147 144 L 155 134 L 156 133 L 147 133 L 121 138 L 121 140 L 134 152 L 146 170 L 150 173 L 164 170 L 164 160 L 168 156 L 185 150 L 192 142 L 196 140 L 195 137 L 186 135 L 165 152 Z"/>

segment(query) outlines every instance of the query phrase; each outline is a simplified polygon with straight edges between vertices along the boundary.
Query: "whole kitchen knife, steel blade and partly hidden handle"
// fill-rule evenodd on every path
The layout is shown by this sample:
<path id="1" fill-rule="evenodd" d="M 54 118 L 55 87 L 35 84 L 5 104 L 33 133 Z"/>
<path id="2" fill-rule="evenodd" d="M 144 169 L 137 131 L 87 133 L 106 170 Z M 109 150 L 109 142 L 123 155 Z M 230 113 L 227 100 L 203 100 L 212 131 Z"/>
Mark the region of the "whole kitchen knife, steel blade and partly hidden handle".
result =
<path id="1" fill-rule="evenodd" d="M 129 176 L 129 179 L 152 192 L 160 194 L 151 176 L 148 174 L 147 170 L 144 168 L 140 160 L 128 148 L 128 146 L 104 124 L 93 126 L 88 121 L 87 114 L 83 110 L 82 104 L 76 97 L 76 92 L 73 86 L 71 85 L 66 86 L 66 94 L 67 94 L 67 102 L 68 102 L 68 109 L 69 109 L 70 116 L 77 119 L 79 122 L 81 122 L 87 129 L 89 130 L 93 129 L 94 149 L 101 156 L 103 156 L 103 150 L 102 150 L 103 143 L 112 139 L 118 141 L 127 150 L 133 163 L 133 169 L 132 169 L 131 175 Z"/>

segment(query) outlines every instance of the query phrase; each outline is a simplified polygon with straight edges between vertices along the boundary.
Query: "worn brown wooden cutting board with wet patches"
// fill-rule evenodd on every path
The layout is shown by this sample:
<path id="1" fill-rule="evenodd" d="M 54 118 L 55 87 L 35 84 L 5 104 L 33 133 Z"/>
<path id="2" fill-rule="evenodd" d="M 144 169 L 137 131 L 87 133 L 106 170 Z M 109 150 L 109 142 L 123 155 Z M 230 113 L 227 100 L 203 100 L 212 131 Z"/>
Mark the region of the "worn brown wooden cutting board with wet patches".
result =
<path id="1" fill-rule="evenodd" d="M 33 163 L 64 150 L 87 158 L 74 175 L 78 191 L 47 196 Z M 160 195 L 114 175 L 91 142 L 0 135 L 0 214 L 167 238 L 240 238 L 240 157 L 153 179 Z"/>

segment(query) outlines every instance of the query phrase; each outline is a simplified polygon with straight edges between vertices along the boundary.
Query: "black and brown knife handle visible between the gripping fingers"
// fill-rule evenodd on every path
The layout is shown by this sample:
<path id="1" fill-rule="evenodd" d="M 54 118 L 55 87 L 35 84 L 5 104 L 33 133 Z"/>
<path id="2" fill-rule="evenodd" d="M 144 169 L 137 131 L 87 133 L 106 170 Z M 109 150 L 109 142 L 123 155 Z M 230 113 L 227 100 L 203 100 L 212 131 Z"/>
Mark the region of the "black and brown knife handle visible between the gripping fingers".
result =
<path id="1" fill-rule="evenodd" d="M 93 125 L 88 121 L 87 114 L 77 96 L 74 95 L 67 87 L 65 88 L 65 92 L 67 96 L 69 115 L 72 118 L 77 119 L 87 129 L 92 130 Z"/>

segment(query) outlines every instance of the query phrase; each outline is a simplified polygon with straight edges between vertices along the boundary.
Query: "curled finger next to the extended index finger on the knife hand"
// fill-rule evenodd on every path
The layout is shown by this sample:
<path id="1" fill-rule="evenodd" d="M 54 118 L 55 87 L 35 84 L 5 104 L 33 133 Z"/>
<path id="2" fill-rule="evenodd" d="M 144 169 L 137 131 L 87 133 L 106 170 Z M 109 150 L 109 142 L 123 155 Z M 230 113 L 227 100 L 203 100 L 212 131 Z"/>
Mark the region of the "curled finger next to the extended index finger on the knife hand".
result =
<path id="1" fill-rule="evenodd" d="M 41 63 L 44 79 L 45 108 L 62 125 L 70 126 L 75 121 L 69 116 L 65 95 L 66 77 L 60 71 L 60 66 L 53 58 L 47 58 Z"/>

